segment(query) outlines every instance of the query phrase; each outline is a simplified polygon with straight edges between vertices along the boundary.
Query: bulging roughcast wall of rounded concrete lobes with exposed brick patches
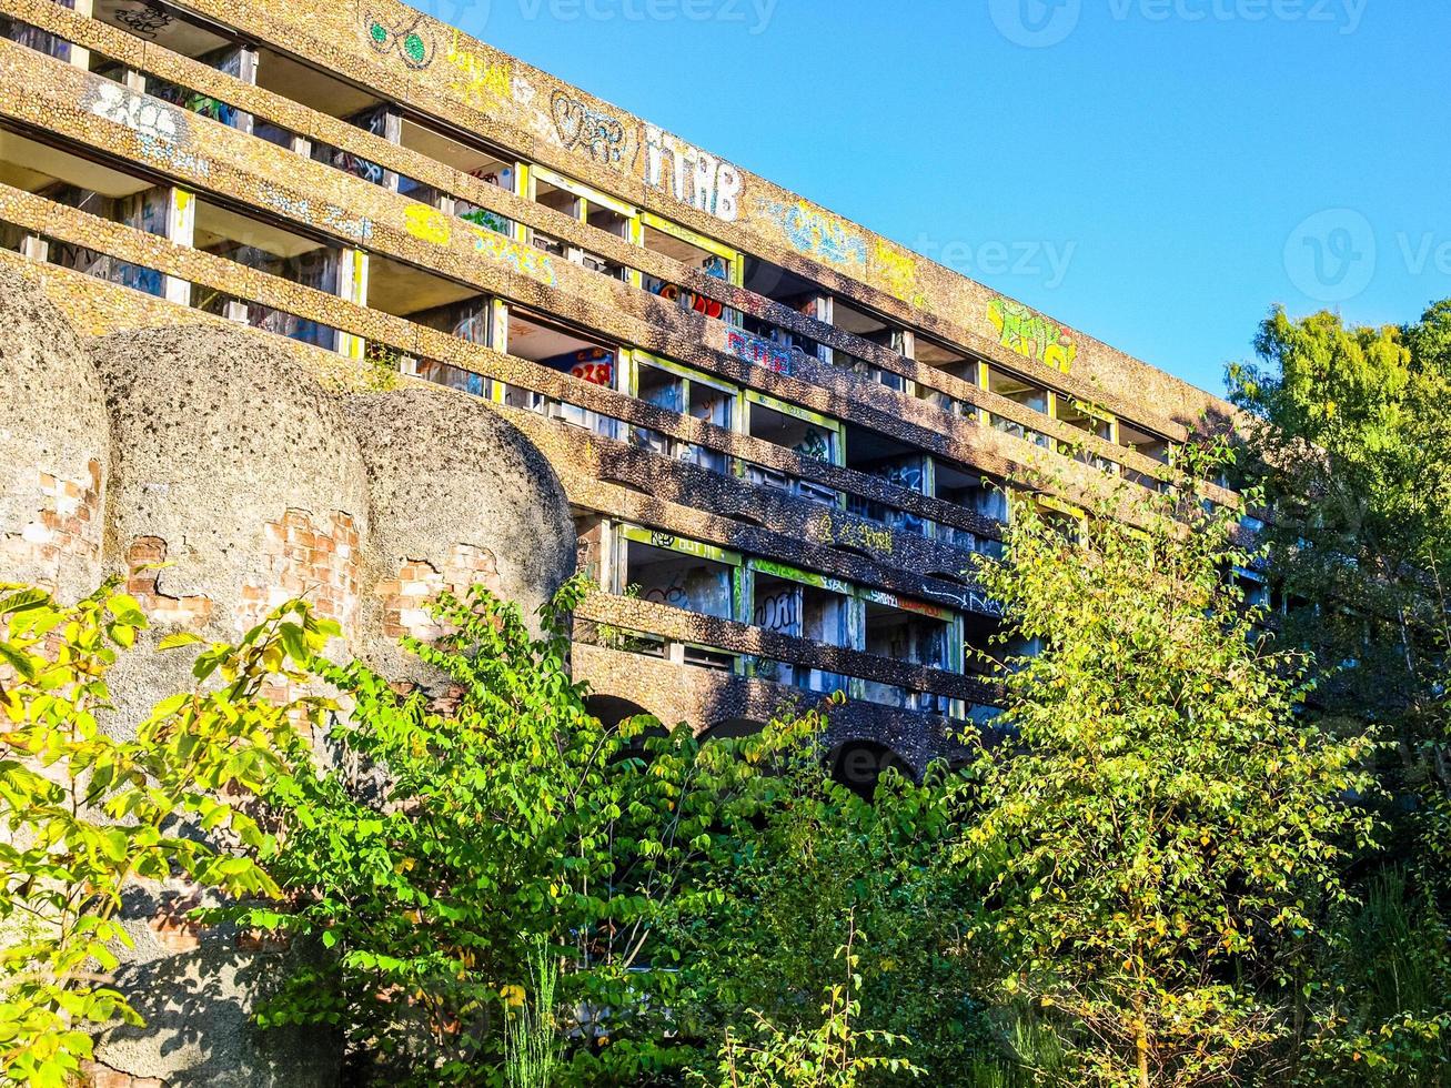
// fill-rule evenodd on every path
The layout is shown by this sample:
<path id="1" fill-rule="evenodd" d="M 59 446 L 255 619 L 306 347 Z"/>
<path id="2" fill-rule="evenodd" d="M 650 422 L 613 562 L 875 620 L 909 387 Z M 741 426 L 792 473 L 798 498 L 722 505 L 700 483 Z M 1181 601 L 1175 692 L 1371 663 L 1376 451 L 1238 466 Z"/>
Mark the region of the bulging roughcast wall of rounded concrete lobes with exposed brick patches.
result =
<path id="1" fill-rule="evenodd" d="M 482 402 L 421 384 L 350 397 L 225 322 L 87 341 L 28 271 L 0 265 L 15 393 L 0 397 L 0 580 L 74 598 L 116 573 L 141 602 L 152 628 L 112 673 L 107 728 L 190 686 L 187 654 L 149 653 L 171 630 L 231 641 L 305 596 L 342 625 L 340 654 L 371 647 L 393 676 L 403 663 L 379 647 L 437 634 L 425 609 L 441 588 L 485 582 L 533 612 L 573 572 L 557 479 Z M 199 904 L 184 882 L 128 889 L 116 985 L 148 1023 L 102 1042 L 93 1082 L 334 1082 L 326 1039 L 250 1026 L 296 953 L 196 926 Z"/>

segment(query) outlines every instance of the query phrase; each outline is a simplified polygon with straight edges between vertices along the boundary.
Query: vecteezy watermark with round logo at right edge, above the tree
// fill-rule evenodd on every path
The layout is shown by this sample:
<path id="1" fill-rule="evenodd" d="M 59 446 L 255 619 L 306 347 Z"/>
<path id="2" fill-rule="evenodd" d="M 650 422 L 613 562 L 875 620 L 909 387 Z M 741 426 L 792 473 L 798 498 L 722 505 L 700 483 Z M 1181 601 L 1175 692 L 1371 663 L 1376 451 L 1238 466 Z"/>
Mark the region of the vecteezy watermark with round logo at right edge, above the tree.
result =
<path id="1" fill-rule="evenodd" d="M 1315 302 L 1348 302 L 1365 292 L 1376 273 L 1394 257 L 1410 277 L 1451 277 L 1451 236 L 1434 231 L 1396 231 L 1387 247 L 1362 213 L 1348 207 L 1316 212 L 1300 222 L 1284 244 L 1290 283 Z"/>

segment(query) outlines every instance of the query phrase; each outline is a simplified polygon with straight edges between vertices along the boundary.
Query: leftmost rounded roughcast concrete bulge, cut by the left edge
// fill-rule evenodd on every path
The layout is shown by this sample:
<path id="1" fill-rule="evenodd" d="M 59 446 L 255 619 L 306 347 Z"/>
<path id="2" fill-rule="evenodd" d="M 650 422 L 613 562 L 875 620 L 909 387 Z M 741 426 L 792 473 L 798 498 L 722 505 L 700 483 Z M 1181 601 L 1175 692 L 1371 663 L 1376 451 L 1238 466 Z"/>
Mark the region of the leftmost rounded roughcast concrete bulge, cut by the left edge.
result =
<path id="1" fill-rule="evenodd" d="M 110 438 L 100 377 L 45 293 L 0 268 L 0 580 L 96 588 Z"/>

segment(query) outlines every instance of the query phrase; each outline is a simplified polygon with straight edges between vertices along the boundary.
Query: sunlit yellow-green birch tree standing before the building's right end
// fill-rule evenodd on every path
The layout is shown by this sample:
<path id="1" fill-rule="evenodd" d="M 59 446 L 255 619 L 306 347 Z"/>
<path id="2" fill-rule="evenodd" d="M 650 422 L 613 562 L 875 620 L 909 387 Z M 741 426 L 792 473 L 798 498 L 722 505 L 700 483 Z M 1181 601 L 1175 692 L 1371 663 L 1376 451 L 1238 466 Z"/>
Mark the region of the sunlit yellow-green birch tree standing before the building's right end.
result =
<path id="1" fill-rule="evenodd" d="M 1061 1017 L 1078 1082 L 1214 1084 L 1264 1062 L 1313 992 L 1307 949 L 1368 820 L 1365 740 L 1300 714 L 1309 662 L 1274 648 L 1230 576 L 1242 511 L 1180 490 L 1084 519 L 1013 499 L 978 569 L 1013 632 L 1003 740 L 958 857 L 988 883 L 994 994 Z M 1129 485 L 1125 485 L 1129 489 Z M 1265 1066 L 1258 1066 L 1265 1076 Z"/>

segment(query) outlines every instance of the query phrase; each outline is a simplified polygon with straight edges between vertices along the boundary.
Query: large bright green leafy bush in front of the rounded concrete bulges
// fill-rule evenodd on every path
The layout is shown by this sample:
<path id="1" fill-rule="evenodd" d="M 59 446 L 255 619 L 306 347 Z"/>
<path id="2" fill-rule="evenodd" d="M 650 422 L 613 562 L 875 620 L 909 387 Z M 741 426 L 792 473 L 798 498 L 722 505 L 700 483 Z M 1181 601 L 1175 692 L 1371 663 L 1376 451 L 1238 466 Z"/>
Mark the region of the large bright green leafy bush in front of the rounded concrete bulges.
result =
<path id="1" fill-rule="evenodd" d="M 708 841 L 679 804 L 688 735 L 607 728 L 569 679 L 560 593 L 543 640 L 482 588 L 444 596 L 451 634 L 406 646 L 448 677 L 447 698 L 399 693 L 360 663 L 318 663 L 350 704 L 329 767 L 299 763 L 270 795 L 273 865 L 295 910 L 244 924 L 316 941 L 264 1024 L 338 1027 L 353 1062 L 389 1084 L 476 1082 L 499 1069 L 501 1013 L 546 939 L 564 952 L 567 1076 L 630 1081 L 670 1062 L 673 976 L 649 970 L 660 912 Z M 667 963 L 660 965 L 667 966 Z"/>

